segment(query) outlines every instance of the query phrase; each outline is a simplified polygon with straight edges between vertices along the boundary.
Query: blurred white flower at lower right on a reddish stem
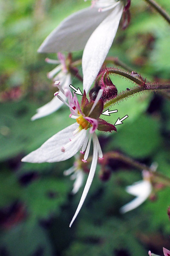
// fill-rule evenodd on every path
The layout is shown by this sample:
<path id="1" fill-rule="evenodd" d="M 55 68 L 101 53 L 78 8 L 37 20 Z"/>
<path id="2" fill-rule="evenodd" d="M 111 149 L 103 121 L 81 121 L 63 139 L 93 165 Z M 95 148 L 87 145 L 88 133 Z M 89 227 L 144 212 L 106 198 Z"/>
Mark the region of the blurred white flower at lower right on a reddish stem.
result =
<path id="1" fill-rule="evenodd" d="M 157 163 L 151 165 L 151 170 L 155 171 L 157 169 Z M 150 196 L 152 192 L 152 184 L 150 181 L 151 174 L 149 171 L 143 170 L 142 172 L 143 180 L 135 182 L 133 185 L 126 187 L 126 191 L 133 196 L 136 196 L 130 203 L 125 204 L 125 206 L 120 208 L 121 213 L 129 212 L 140 206 L 145 200 Z"/>

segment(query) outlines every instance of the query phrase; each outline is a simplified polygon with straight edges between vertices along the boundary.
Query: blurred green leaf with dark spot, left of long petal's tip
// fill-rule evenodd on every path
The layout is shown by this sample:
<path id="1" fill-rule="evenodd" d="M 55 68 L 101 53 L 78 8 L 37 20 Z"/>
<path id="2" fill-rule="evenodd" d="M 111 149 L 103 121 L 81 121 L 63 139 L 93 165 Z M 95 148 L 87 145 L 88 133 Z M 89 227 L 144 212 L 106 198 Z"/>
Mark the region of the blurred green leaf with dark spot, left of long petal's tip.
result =
<path id="1" fill-rule="evenodd" d="M 57 177 L 44 177 L 30 183 L 23 189 L 21 199 L 28 211 L 36 218 L 45 218 L 60 212 L 69 186 Z"/>

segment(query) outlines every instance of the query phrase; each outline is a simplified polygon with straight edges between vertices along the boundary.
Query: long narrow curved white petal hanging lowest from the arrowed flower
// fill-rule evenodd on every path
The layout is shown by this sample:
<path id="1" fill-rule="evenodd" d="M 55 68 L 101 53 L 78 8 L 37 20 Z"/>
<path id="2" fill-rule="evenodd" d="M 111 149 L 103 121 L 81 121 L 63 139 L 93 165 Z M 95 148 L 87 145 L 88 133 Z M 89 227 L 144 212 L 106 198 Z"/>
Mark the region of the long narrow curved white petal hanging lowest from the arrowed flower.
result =
<path id="1" fill-rule="evenodd" d="M 92 135 L 93 136 L 93 135 Z M 83 190 L 83 194 L 81 196 L 81 199 L 80 199 L 80 202 L 79 202 L 79 205 L 77 207 L 77 210 L 73 216 L 73 219 L 72 221 L 70 222 L 70 225 L 69 227 L 71 227 L 71 225 L 73 224 L 75 218 L 77 217 L 81 207 L 83 206 L 83 203 L 84 203 L 84 200 L 87 196 L 87 193 L 89 192 L 89 188 L 91 186 L 91 183 L 92 183 L 92 180 L 94 178 L 94 175 L 95 175 L 95 171 L 96 171 L 96 165 L 97 165 L 97 145 L 96 145 L 96 141 L 93 137 L 93 159 L 92 159 L 92 163 L 91 163 L 91 167 L 90 167 L 90 172 L 89 172 L 89 176 L 87 178 L 87 181 L 86 181 L 86 185 L 84 187 L 84 190 Z"/>

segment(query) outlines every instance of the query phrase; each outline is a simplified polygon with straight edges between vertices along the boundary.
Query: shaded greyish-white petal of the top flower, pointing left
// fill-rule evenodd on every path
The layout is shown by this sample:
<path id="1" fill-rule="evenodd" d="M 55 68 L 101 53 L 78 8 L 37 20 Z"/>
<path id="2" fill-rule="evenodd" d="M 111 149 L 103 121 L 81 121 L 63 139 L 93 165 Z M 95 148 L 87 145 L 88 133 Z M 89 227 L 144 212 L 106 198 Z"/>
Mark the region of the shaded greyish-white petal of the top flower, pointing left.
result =
<path id="1" fill-rule="evenodd" d="M 107 17 L 108 12 L 98 12 L 88 7 L 70 15 L 44 40 L 38 52 L 77 51 L 85 47 L 91 33 Z"/>

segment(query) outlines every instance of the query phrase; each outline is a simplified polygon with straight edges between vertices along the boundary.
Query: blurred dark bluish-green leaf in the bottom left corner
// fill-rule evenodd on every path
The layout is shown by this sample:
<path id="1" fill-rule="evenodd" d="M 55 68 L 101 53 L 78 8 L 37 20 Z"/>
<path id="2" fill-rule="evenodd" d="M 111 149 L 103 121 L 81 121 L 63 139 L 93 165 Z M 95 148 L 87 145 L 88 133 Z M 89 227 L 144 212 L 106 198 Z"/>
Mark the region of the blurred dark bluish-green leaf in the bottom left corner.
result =
<path id="1" fill-rule="evenodd" d="M 46 231 L 38 224 L 25 222 L 1 234 L 1 247 L 5 247 L 9 256 L 32 256 L 43 252 L 43 256 L 52 256 L 52 248 Z"/>

